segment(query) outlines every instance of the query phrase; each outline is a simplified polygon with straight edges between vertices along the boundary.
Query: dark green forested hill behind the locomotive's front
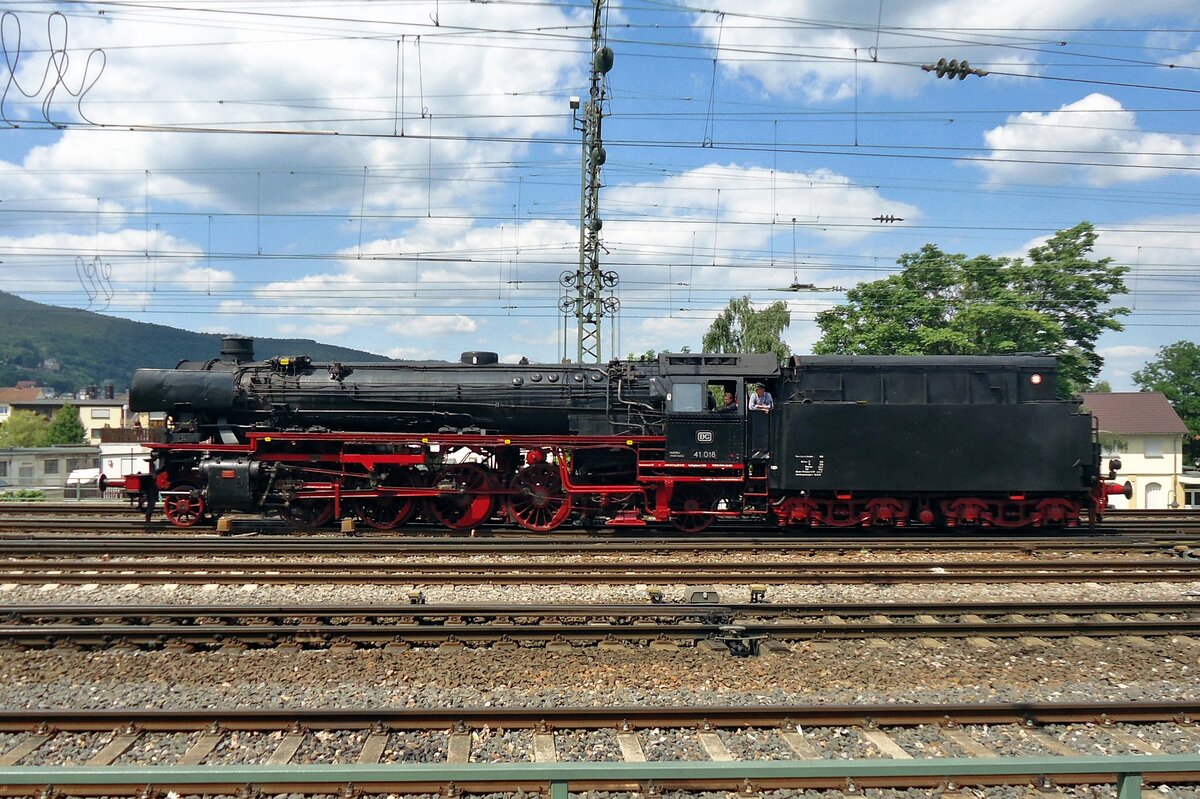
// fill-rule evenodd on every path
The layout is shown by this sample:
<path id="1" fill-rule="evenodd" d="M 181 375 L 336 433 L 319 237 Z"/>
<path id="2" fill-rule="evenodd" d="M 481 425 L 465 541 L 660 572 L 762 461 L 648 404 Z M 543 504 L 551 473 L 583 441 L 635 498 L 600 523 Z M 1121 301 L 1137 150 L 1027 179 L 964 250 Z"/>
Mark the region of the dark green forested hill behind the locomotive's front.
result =
<path id="1" fill-rule="evenodd" d="M 128 388 L 139 368 L 169 368 L 221 353 L 221 335 L 60 308 L 0 292 L 0 385 L 37 380 L 60 391 L 110 380 Z M 254 338 L 254 358 L 311 355 L 313 360 L 389 361 L 390 358 L 307 338 Z M 42 366 L 47 361 L 56 368 Z"/>

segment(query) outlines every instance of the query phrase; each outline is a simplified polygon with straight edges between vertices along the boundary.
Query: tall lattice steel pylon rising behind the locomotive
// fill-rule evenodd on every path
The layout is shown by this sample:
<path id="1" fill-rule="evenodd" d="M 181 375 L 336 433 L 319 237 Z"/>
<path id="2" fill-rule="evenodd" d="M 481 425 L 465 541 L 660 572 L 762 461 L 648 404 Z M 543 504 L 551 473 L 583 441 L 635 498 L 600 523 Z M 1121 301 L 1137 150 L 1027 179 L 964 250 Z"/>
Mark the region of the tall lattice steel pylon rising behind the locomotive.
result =
<path id="1" fill-rule="evenodd" d="M 564 326 L 571 316 L 575 317 L 578 334 L 576 359 L 580 364 L 601 362 L 602 322 L 605 317 L 614 316 L 620 310 L 620 301 L 614 295 L 620 278 L 614 271 L 600 269 L 600 229 L 604 227 L 600 218 L 600 168 L 606 158 L 600 130 L 607 95 L 605 76 L 612 70 L 613 62 L 612 49 L 602 43 L 604 6 L 605 0 L 592 0 L 592 80 L 582 119 L 576 119 L 576 130 L 583 133 L 580 265 L 574 272 L 563 272 L 560 278 L 566 292 L 559 308 Z M 574 295 L 571 289 L 575 289 Z M 563 343 L 565 349 L 565 340 Z"/>

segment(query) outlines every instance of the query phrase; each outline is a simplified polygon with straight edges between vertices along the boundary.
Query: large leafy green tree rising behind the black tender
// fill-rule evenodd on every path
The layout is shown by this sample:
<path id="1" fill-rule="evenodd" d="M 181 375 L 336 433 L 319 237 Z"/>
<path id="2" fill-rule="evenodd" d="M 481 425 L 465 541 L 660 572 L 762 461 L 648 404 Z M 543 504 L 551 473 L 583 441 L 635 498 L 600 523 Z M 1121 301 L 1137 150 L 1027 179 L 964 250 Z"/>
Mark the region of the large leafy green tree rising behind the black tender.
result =
<path id="1" fill-rule="evenodd" d="M 1124 266 L 1092 260 L 1087 222 L 1033 247 L 1028 260 L 942 252 L 925 245 L 900 257 L 900 272 L 846 293 L 846 304 L 817 314 L 814 352 L 846 355 L 1058 356 L 1061 390 L 1090 385 L 1103 366 L 1096 340 L 1121 330 Z"/>

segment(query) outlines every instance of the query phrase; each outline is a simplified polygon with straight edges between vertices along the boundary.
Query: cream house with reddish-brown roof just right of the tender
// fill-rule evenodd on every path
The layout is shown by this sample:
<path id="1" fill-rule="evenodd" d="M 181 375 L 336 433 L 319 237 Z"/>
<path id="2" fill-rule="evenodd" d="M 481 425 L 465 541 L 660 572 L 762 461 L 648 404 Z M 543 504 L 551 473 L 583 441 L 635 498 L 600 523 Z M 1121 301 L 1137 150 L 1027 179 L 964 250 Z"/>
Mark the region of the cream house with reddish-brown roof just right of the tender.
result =
<path id="1" fill-rule="evenodd" d="M 1200 480 L 1183 474 L 1187 425 L 1159 391 L 1086 392 L 1108 459 L 1121 461 L 1117 481 L 1133 483 L 1133 498 L 1110 497 L 1114 507 L 1200 507 Z"/>

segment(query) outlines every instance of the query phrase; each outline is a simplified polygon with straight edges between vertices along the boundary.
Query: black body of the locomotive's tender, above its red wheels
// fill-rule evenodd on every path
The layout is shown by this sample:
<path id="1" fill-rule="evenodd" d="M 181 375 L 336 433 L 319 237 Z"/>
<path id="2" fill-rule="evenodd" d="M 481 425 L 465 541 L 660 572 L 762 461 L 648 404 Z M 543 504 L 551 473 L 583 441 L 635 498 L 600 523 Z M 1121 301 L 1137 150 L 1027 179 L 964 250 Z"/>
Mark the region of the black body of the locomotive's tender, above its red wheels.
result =
<path id="1" fill-rule="evenodd" d="M 1078 494 L 1092 417 L 1034 356 L 804 356 L 775 417 L 782 492 Z"/>

